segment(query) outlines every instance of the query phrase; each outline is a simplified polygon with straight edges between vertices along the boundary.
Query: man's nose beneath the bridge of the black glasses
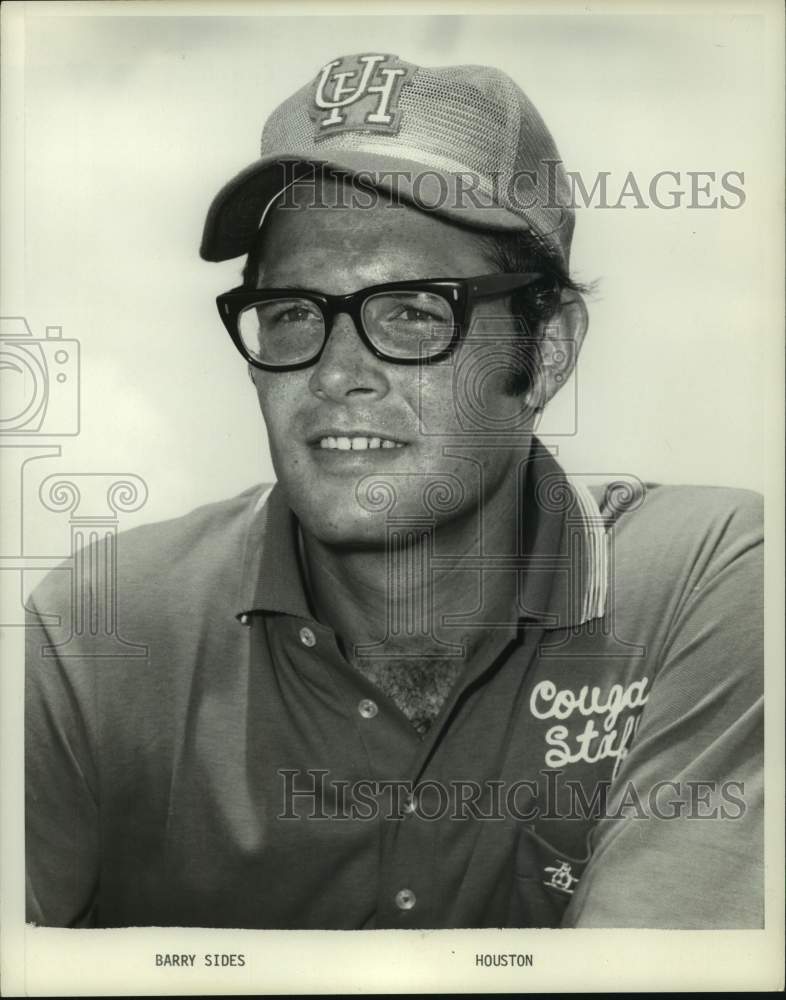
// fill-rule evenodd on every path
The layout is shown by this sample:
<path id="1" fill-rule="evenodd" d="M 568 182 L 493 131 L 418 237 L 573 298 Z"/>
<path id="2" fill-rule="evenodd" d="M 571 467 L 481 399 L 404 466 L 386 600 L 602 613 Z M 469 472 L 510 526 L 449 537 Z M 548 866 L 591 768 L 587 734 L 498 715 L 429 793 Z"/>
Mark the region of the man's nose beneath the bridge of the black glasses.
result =
<path id="1" fill-rule="evenodd" d="M 385 396 L 390 388 L 385 362 L 363 343 L 350 316 L 333 320 L 322 357 L 314 366 L 309 388 L 315 396 L 343 402 L 350 396 Z"/>

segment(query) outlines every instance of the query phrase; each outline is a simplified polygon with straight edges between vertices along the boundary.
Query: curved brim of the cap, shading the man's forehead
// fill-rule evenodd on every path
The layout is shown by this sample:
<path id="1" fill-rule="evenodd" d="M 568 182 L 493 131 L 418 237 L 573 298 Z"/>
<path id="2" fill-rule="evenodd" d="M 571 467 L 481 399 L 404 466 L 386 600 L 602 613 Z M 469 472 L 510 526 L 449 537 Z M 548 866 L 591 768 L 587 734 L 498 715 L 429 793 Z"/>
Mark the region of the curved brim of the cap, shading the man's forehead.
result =
<path id="1" fill-rule="evenodd" d="M 351 174 L 364 186 L 384 190 L 424 211 L 472 228 L 531 228 L 521 215 L 491 204 L 490 194 L 473 189 L 466 172 L 437 170 L 416 160 L 354 150 L 336 150 L 324 158 L 274 153 L 242 170 L 213 199 L 202 233 L 202 258 L 222 261 L 247 254 L 267 205 L 298 176 L 298 165 Z"/>

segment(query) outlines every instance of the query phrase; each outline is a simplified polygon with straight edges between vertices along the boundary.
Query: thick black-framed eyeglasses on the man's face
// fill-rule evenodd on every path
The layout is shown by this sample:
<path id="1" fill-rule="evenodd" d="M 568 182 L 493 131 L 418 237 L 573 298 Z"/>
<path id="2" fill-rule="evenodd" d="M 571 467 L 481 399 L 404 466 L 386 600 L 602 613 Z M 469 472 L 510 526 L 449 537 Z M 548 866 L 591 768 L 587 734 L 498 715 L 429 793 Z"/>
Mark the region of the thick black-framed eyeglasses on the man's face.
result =
<path id="1" fill-rule="evenodd" d="M 519 291 L 543 275 L 484 274 L 371 285 L 349 295 L 300 288 L 235 288 L 216 299 L 235 346 L 256 368 L 315 364 L 339 313 L 376 357 L 399 365 L 439 361 L 455 350 L 478 299 Z"/>

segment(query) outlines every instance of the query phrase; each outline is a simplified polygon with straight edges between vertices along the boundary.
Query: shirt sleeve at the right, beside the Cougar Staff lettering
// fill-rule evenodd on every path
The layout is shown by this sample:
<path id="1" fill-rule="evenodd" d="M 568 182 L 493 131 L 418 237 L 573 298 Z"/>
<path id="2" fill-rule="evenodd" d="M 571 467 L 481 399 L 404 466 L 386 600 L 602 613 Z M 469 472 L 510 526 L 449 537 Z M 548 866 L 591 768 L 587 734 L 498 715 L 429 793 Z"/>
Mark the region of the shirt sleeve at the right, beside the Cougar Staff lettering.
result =
<path id="1" fill-rule="evenodd" d="M 688 585 L 563 926 L 764 926 L 762 605 L 752 501 Z"/>

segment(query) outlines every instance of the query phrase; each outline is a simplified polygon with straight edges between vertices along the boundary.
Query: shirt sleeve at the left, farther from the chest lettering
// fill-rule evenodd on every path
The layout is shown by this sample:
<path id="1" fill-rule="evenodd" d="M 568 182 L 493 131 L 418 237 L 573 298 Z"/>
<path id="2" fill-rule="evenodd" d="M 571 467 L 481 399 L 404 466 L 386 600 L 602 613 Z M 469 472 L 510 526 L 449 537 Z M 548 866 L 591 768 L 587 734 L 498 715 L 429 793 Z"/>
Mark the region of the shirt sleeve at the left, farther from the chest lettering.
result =
<path id="1" fill-rule="evenodd" d="M 28 601 L 25 636 L 27 920 L 49 927 L 87 927 L 99 871 L 96 769 L 84 685 L 56 649 L 46 651 L 58 640 L 45 621 L 57 609 L 67 630 L 70 615 L 63 612 L 70 598 L 53 598 L 52 588 L 48 590 L 40 605 L 45 615 L 39 614 L 34 598 Z"/>

